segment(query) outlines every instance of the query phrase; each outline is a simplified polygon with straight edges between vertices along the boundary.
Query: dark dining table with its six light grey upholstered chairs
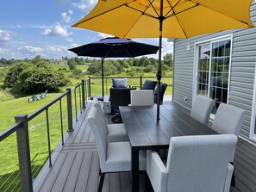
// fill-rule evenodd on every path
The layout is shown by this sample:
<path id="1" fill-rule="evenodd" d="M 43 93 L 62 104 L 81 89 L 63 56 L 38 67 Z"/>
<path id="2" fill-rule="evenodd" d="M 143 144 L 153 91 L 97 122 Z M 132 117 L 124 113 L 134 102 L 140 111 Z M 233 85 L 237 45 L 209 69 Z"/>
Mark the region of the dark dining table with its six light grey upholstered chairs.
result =
<path id="1" fill-rule="evenodd" d="M 197 96 L 190 115 L 172 102 L 158 121 L 153 90 L 138 92 L 130 90 L 131 104 L 119 106 L 123 123 L 107 124 L 100 103 L 93 101 L 88 122 L 100 160 L 98 191 L 106 173 L 123 171 L 132 172 L 132 191 L 139 191 L 142 171 L 147 173 L 146 189 L 154 191 L 228 192 L 237 135 L 247 112 L 222 103 L 208 127 L 215 101 Z M 163 149 L 167 156 L 160 154 Z"/>

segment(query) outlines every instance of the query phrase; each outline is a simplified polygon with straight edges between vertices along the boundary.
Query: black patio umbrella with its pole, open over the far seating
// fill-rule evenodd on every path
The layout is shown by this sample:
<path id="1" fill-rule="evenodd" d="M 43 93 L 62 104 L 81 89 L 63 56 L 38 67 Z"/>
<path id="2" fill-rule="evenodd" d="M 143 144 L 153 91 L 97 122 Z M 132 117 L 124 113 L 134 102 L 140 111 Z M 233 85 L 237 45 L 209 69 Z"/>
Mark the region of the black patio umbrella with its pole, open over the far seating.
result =
<path id="1" fill-rule="evenodd" d="M 78 56 L 88 56 L 102 59 L 102 86 L 103 84 L 103 63 L 106 58 L 134 58 L 141 55 L 157 53 L 159 46 L 148 45 L 135 42 L 130 39 L 120 39 L 118 37 L 108 37 L 96 42 L 77 46 L 69 51 Z M 103 86 L 104 96 L 104 86 Z"/>

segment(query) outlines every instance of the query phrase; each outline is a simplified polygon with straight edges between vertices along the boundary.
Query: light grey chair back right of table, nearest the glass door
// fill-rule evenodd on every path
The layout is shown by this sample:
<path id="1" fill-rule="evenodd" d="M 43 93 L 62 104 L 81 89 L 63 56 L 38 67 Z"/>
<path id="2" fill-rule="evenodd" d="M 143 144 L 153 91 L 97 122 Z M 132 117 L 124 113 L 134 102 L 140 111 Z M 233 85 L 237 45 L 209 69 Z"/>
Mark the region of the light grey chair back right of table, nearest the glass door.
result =
<path id="1" fill-rule="evenodd" d="M 195 102 L 193 102 L 190 116 L 197 121 L 208 125 L 209 115 L 214 105 L 215 101 L 213 99 L 206 96 L 197 95 Z"/>

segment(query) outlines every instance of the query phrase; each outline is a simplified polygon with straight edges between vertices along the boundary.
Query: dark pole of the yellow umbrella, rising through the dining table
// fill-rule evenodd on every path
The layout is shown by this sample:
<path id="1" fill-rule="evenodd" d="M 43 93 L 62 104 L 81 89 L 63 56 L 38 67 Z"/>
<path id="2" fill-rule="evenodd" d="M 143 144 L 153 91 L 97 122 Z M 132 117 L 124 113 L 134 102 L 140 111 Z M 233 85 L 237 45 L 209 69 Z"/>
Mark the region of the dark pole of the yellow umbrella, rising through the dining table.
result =
<path id="1" fill-rule="evenodd" d="M 159 68 L 157 72 L 158 79 L 158 97 L 157 97 L 157 121 L 160 120 L 160 83 L 162 78 L 162 30 L 163 30 L 163 0 L 160 2 L 160 16 L 159 16 Z"/>

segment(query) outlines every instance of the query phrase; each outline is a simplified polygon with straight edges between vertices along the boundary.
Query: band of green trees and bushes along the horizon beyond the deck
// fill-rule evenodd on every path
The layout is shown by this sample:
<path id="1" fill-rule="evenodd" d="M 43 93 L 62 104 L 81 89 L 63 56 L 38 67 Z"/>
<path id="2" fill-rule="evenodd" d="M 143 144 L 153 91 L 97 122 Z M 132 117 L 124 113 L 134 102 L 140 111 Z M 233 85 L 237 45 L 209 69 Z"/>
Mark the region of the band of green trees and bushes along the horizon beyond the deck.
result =
<path id="1" fill-rule="evenodd" d="M 90 65 L 87 74 L 101 75 L 101 59 L 88 58 L 63 58 L 66 59 L 72 76 L 84 77 L 84 72 L 77 69 L 77 65 Z M 45 90 L 59 91 L 59 87 L 69 84 L 68 77 L 64 75 L 66 68 L 55 70 L 49 59 L 36 56 L 33 59 L 0 59 L 0 82 L 2 88 L 9 89 L 13 94 L 33 94 Z M 172 71 L 172 53 L 167 53 L 162 61 L 163 71 Z M 138 75 L 143 72 L 156 72 L 158 59 L 141 57 L 139 59 L 105 59 L 104 75 L 116 75 L 125 72 L 129 76 Z"/>

